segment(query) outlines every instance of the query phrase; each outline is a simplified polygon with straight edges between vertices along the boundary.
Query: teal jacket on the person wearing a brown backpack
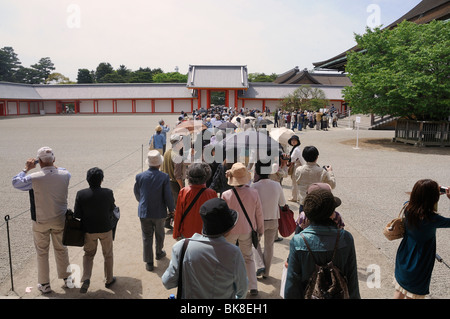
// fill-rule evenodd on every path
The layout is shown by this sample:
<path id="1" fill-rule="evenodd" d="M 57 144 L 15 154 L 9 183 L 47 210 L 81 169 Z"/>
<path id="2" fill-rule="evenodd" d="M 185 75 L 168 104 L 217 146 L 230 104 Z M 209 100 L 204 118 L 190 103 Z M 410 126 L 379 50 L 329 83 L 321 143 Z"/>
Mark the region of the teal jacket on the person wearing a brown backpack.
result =
<path id="1" fill-rule="evenodd" d="M 340 238 L 333 264 L 347 278 L 351 299 L 360 299 L 358 286 L 358 267 L 356 265 L 353 236 L 346 230 L 333 226 L 310 225 L 301 233 L 305 236 L 314 258 L 321 265 L 331 261 L 336 243 L 337 232 Z M 315 263 L 300 234 L 294 235 L 290 242 L 288 271 L 284 297 L 286 299 L 302 299 L 308 280 L 315 270 Z"/>

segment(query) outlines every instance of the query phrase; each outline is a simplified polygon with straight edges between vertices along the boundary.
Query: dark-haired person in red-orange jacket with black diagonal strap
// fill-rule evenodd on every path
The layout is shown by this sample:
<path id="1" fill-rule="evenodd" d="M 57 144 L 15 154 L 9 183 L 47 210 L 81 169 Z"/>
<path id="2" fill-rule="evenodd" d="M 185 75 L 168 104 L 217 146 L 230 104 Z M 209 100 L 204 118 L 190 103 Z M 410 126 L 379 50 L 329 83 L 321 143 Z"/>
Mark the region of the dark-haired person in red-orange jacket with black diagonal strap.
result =
<path id="1" fill-rule="evenodd" d="M 203 222 L 199 214 L 200 207 L 217 193 L 206 187 L 211 176 L 211 168 L 207 163 L 193 163 L 187 169 L 188 186 L 183 187 L 177 199 L 173 220 L 173 238 L 190 238 L 194 233 L 202 231 Z M 189 208 L 189 209 L 188 209 Z"/>

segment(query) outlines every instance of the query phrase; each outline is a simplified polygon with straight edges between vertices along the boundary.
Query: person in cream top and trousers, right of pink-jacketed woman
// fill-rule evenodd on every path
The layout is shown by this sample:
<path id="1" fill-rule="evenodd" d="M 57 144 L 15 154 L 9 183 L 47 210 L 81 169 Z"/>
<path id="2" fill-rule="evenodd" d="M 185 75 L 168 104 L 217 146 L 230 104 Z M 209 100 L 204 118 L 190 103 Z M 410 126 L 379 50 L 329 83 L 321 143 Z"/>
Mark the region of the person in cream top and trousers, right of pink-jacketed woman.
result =
<path id="1" fill-rule="evenodd" d="M 268 277 L 270 274 L 273 245 L 278 236 L 280 206 L 284 207 L 286 205 L 280 183 L 269 179 L 271 169 L 270 162 L 267 164 L 263 164 L 260 161 L 256 162 L 255 173 L 258 174 L 259 180 L 250 186 L 258 191 L 264 217 L 264 252 L 261 244 L 259 244 L 255 254 L 256 275 L 263 278 Z"/>

